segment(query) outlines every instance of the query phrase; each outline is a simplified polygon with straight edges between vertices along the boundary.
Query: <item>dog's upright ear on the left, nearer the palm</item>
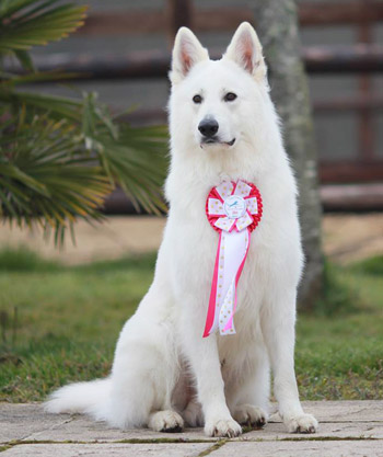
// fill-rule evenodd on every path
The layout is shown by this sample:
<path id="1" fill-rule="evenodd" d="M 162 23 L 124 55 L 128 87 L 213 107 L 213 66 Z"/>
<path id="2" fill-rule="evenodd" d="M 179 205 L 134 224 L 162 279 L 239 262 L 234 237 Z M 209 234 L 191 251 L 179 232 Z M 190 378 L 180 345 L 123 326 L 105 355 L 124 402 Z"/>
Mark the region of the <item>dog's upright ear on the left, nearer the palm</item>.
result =
<path id="1" fill-rule="evenodd" d="M 196 64 L 207 59 L 209 54 L 196 35 L 189 28 L 181 27 L 174 42 L 170 80 L 173 84 L 182 81 Z"/>

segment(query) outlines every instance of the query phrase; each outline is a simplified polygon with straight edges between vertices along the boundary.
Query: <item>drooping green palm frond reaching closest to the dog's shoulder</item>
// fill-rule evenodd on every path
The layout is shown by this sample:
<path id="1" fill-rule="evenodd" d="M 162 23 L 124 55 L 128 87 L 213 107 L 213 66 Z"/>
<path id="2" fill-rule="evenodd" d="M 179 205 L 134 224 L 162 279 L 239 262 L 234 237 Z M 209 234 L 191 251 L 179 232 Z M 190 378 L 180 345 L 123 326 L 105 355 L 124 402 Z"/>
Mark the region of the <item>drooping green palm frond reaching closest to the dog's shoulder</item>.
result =
<path id="1" fill-rule="evenodd" d="M 120 185 L 136 208 L 149 213 L 166 210 L 161 187 L 167 168 L 167 129 L 116 124 L 94 93 L 83 100 L 30 92 L 1 92 L 0 102 L 28 112 L 49 112 L 53 119 L 67 118 L 76 125 L 84 152 L 94 153 L 113 186 Z"/>

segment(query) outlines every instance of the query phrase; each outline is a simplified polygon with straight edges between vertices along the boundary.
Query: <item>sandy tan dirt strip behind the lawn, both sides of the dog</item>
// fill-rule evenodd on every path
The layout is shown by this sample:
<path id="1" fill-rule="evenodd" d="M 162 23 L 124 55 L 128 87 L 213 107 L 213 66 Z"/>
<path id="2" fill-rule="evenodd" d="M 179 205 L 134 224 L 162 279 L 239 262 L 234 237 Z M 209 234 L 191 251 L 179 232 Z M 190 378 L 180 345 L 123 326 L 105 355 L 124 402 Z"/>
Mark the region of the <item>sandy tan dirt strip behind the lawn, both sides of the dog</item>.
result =
<path id="1" fill-rule="evenodd" d="M 108 217 L 95 227 L 79 221 L 77 245 L 68 239 L 62 250 L 46 242 L 39 230 L 0 226 L 0 248 L 25 245 L 48 259 L 67 264 L 158 250 L 165 218 L 150 216 Z M 347 264 L 383 254 L 383 214 L 326 215 L 323 219 L 324 252 L 333 261 Z"/>

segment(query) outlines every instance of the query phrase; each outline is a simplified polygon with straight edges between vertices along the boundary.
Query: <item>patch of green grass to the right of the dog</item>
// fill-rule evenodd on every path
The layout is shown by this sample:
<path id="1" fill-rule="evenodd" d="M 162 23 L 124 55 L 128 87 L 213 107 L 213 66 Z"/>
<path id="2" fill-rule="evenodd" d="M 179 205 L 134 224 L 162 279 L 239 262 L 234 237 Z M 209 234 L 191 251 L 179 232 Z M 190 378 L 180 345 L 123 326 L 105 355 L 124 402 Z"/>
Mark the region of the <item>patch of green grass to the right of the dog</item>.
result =
<path id="1" fill-rule="evenodd" d="M 383 256 L 378 263 L 382 269 Z M 383 398 L 383 287 L 375 270 L 364 265 L 370 261 L 327 267 L 325 302 L 299 316 L 295 365 L 304 399 Z"/>

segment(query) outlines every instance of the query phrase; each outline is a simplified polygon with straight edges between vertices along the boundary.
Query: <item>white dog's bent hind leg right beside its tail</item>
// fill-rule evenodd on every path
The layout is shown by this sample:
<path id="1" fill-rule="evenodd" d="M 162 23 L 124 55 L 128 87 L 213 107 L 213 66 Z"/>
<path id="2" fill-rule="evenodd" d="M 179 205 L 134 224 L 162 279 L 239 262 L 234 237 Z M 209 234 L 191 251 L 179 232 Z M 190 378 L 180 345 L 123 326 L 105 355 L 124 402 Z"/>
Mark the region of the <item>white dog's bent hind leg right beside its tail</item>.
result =
<path id="1" fill-rule="evenodd" d="M 119 336 L 106 415 L 120 429 L 149 425 L 176 431 L 183 426 L 171 404 L 179 364 L 167 290 L 165 284 L 154 282 Z"/>

